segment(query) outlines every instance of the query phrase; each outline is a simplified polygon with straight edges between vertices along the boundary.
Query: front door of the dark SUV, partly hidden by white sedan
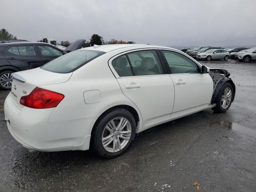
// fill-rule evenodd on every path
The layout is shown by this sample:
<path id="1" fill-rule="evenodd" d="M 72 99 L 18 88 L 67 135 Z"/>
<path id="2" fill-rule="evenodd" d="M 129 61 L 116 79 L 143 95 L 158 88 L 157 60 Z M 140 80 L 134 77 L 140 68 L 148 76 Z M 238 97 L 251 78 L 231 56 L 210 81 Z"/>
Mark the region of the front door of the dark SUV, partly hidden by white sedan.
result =
<path id="1" fill-rule="evenodd" d="M 36 46 L 42 59 L 42 65 L 63 55 L 63 52 L 54 48 L 53 46 L 48 46 L 46 44 L 37 44 Z"/>

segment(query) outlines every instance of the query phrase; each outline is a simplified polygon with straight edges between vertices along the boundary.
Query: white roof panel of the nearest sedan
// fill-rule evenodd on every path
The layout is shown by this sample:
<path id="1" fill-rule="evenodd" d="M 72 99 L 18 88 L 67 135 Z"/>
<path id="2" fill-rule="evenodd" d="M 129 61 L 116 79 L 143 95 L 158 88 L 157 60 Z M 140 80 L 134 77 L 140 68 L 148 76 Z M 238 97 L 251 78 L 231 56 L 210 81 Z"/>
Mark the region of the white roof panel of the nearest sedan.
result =
<path id="1" fill-rule="evenodd" d="M 144 48 L 145 46 L 147 46 L 148 48 L 173 49 L 173 48 L 170 48 L 170 47 L 156 46 L 156 45 L 146 45 L 146 44 L 111 44 L 111 45 L 100 45 L 100 46 L 94 45 L 94 46 L 91 46 L 91 47 L 82 48 L 82 50 L 97 50 L 97 51 L 102 51 L 102 52 L 110 52 L 110 51 L 117 50 L 117 49 L 122 49 L 122 48 L 131 47 L 131 48 L 137 49 L 137 48 L 140 48 L 140 47 Z M 173 49 L 173 50 L 176 50 L 176 49 Z"/>

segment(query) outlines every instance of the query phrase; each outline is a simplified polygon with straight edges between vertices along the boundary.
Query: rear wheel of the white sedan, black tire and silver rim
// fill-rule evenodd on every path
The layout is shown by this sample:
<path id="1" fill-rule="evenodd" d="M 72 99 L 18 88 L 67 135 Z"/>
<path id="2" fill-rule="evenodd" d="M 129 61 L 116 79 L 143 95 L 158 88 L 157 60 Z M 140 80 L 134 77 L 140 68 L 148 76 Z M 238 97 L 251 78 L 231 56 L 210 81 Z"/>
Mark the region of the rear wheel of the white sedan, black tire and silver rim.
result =
<path id="1" fill-rule="evenodd" d="M 122 122 L 121 119 L 123 119 Z M 120 129 L 118 129 L 118 125 L 121 125 Z M 128 132 L 131 132 L 129 140 Z M 128 110 L 123 108 L 109 110 L 97 120 L 92 130 L 92 149 L 100 157 L 115 158 L 128 149 L 135 137 L 135 132 L 136 122 Z M 105 146 L 103 146 L 104 144 Z"/>

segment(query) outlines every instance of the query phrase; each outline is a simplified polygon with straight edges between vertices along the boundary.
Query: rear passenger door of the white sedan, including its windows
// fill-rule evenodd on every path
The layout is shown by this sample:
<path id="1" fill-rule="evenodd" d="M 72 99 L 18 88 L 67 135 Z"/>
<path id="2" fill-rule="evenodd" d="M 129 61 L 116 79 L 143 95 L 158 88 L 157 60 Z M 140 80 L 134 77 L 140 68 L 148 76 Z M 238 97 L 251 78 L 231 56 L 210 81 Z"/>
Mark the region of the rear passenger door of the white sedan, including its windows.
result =
<path id="1" fill-rule="evenodd" d="M 174 84 L 156 50 L 127 52 L 109 64 L 124 95 L 140 110 L 144 125 L 170 118 Z"/>

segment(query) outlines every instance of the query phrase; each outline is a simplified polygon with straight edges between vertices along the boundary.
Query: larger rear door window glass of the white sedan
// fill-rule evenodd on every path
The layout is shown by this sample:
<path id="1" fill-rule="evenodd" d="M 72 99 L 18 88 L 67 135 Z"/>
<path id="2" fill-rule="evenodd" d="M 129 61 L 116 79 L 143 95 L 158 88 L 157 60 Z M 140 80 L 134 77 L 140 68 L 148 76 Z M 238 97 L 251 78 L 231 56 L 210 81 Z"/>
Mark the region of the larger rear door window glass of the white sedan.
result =
<path id="1" fill-rule="evenodd" d="M 136 51 L 127 55 L 135 76 L 164 74 L 155 50 Z"/>

